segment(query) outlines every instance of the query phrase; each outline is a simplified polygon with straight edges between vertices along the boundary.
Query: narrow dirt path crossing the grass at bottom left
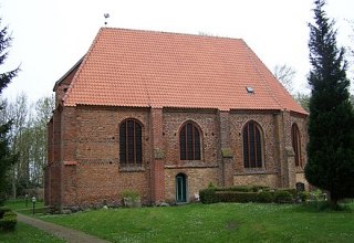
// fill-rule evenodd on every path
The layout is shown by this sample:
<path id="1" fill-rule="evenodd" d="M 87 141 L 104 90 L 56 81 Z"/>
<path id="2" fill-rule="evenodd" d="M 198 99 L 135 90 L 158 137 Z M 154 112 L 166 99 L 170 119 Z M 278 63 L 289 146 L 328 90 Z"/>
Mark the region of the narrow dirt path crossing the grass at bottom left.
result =
<path id="1" fill-rule="evenodd" d="M 48 233 L 51 233 L 58 237 L 64 239 L 67 242 L 71 243 L 107 243 L 107 241 L 104 241 L 102 239 L 98 239 L 93 235 L 85 234 L 81 231 L 72 230 L 69 228 L 64 228 L 54 223 L 44 222 L 42 220 L 38 220 L 31 216 L 27 216 L 20 213 L 18 214 L 18 221 L 21 221 L 23 223 L 30 224 L 32 226 L 35 226 L 40 230 L 43 230 Z"/>

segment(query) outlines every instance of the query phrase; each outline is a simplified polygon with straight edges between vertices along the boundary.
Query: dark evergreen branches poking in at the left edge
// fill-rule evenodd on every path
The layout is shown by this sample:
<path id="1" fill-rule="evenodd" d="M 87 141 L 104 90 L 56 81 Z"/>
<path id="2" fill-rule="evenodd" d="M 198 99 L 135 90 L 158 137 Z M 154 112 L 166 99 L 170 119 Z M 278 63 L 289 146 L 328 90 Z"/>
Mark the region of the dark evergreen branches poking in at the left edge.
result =
<path id="1" fill-rule="evenodd" d="M 0 19 L 1 24 L 1 19 Z M 8 28 L 0 30 L 0 65 L 2 65 L 8 57 L 7 50 L 11 45 L 11 36 L 8 34 Z M 17 76 L 19 67 L 0 74 L 0 94 L 3 88 L 8 86 L 13 77 Z M 0 107 L 3 109 L 3 107 Z M 0 204 L 3 202 L 3 192 L 6 186 L 6 175 L 11 166 L 15 162 L 15 156 L 9 149 L 8 133 L 11 128 L 11 120 L 1 123 L 0 125 Z"/>

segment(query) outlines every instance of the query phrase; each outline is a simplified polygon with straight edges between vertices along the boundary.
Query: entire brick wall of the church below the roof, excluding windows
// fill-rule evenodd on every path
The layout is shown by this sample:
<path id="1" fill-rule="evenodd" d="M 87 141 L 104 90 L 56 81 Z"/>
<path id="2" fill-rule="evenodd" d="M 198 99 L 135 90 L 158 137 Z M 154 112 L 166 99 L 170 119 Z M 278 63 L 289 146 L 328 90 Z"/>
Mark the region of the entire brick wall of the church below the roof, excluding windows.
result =
<path id="1" fill-rule="evenodd" d="M 118 131 L 127 118 L 138 120 L 143 128 L 143 165 L 138 168 L 119 166 Z M 250 120 L 262 130 L 264 166 L 261 169 L 243 167 L 242 128 Z M 200 130 L 201 160 L 198 161 L 179 159 L 179 130 L 187 122 Z M 104 201 L 117 204 L 126 190 L 140 193 L 144 203 L 174 201 L 178 173 L 186 176 L 189 200 L 210 182 L 283 187 L 285 147 L 291 145 L 293 123 L 301 130 L 304 147 L 306 120 L 290 113 L 64 107 L 53 117 L 49 201 L 62 200 L 64 205 L 93 205 Z M 231 156 L 223 157 L 223 148 L 229 149 Z M 294 180 L 301 179 L 300 173 L 293 175 Z M 62 191 L 62 197 L 58 191 Z"/>

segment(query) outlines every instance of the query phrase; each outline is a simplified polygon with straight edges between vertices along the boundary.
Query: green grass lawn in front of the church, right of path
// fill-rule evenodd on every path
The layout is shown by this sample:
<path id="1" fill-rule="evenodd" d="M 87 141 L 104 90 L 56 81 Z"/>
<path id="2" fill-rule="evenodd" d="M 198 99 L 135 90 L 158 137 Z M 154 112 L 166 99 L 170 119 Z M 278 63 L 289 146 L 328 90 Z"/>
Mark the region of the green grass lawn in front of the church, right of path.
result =
<path id="1" fill-rule="evenodd" d="M 354 204 L 351 204 L 352 211 Z M 110 209 L 43 220 L 112 242 L 353 242 L 354 213 L 303 205 L 188 204 Z"/>

